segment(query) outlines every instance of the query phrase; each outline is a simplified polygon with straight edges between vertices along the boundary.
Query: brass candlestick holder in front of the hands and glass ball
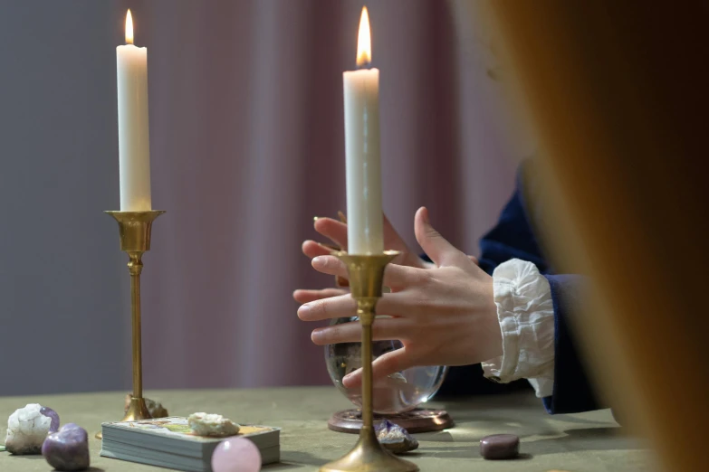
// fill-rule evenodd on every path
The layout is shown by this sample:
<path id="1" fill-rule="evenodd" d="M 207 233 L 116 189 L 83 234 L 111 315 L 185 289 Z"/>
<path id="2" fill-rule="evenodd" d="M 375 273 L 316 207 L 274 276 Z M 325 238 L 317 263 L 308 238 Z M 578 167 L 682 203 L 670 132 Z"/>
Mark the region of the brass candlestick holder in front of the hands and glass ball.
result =
<path id="1" fill-rule="evenodd" d="M 397 251 L 360 256 L 343 251 L 333 253 L 347 265 L 350 293 L 357 301 L 357 316 L 362 326 L 362 429 L 355 447 L 344 457 L 325 464 L 321 472 L 416 472 L 416 464 L 397 458 L 383 448 L 374 432 L 372 411 L 372 325 L 378 299 L 382 296 L 384 269 L 398 256 Z"/>

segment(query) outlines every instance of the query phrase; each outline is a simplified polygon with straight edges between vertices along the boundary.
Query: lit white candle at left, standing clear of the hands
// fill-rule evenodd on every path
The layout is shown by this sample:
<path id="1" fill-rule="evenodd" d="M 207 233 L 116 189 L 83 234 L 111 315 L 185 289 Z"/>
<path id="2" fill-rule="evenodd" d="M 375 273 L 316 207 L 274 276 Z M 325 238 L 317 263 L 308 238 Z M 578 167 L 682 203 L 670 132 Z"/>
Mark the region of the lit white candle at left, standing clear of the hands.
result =
<path id="1" fill-rule="evenodd" d="M 126 15 L 126 45 L 116 48 L 119 111 L 120 211 L 152 210 L 148 131 L 148 50 L 133 45 Z"/>

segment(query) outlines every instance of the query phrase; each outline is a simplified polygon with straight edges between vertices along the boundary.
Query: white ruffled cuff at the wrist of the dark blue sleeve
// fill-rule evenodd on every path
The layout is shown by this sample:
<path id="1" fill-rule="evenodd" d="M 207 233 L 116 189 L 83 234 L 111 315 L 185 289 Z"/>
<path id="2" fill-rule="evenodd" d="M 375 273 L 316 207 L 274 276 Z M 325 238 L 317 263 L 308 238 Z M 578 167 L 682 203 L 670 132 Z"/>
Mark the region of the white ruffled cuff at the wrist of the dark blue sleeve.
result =
<path id="1" fill-rule="evenodd" d="M 497 382 L 527 379 L 537 397 L 554 385 L 554 306 L 549 281 L 532 262 L 513 259 L 493 272 L 494 302 L 503 332 L 503 355 L 483 363 Z"/>

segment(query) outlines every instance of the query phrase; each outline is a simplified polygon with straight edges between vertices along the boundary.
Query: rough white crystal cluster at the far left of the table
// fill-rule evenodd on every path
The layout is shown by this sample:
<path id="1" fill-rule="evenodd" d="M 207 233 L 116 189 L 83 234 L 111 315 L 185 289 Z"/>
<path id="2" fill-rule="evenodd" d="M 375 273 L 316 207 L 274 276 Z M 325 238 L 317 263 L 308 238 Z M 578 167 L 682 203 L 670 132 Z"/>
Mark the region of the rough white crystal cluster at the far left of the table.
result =
<path id="1" fill-rule="evenodd" d="M 13 454 L 39 454 L 47 438 L 52 419 L 44 416 L 39 403 L 29 403 L 15 410 L 7 420 L 5 448 Z"/>

